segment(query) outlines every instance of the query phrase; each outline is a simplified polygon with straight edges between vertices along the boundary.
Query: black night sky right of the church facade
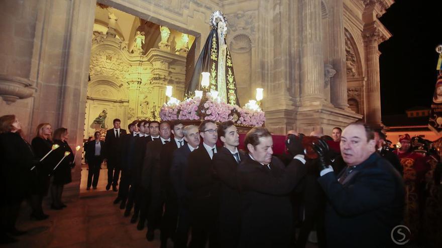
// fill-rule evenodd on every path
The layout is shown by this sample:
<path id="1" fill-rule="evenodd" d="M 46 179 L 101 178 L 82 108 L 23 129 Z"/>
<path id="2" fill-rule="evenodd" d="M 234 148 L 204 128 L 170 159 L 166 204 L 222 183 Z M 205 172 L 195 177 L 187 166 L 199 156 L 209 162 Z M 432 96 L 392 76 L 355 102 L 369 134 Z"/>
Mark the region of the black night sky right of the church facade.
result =
<path id="1" fill-rule="evenodd" d="M 430 107 L 442 44 L 442 1 L 395 0 L 379 19 L 392 37 L 379 45 L 382 115 Z"/>

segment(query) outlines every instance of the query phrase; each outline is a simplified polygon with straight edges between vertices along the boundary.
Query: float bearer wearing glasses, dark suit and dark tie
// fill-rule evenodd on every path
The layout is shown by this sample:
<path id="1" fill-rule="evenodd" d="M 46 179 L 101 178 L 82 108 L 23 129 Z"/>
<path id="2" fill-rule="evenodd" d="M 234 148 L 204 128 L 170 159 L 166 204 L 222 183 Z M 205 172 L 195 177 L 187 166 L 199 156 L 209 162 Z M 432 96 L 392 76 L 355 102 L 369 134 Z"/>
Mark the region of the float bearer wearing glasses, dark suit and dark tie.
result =
<path id="1" fill-rule="evenodd" d="M 189 205 L 192 216 L 192 241 L 194 247 L 209 247 L 217 244 L 217 215 L 219 181 L 214 180 L 212 158 L 217 152 L 218 138 L 216 123 L 204 120 L 199 125 L 202 144 L 190 153 L 188 159 L 186 186 L 190 191 Z"/>

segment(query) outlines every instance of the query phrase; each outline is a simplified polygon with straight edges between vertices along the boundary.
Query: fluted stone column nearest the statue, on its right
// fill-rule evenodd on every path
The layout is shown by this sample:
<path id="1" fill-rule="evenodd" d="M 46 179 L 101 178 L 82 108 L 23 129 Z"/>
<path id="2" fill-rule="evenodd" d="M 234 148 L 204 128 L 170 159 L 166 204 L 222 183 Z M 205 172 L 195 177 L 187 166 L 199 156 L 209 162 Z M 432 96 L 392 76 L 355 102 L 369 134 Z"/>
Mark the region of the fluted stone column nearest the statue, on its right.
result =
<path id="1" fill-rule="evenodd" d="M 301 11 L 301 102 L 303 106 L 324 101 L 321 1 L 303 0 Z"/>

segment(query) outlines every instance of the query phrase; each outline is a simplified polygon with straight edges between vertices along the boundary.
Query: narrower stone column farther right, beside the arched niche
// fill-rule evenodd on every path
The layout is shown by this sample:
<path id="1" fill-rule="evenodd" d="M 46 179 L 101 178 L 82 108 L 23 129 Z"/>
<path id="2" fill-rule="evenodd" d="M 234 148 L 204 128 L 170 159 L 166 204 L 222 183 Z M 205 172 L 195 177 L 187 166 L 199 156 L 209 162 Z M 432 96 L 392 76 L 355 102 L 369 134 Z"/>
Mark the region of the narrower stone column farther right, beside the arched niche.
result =
<path id="1" fill-rule="evenodd" d="M 340 109 L 346 109 L 347 100 L 347 67 L 344 40 L 344 4 L 343 0 L 332 0 L 329 5 L 329 51 L 330 64 L 336 74 L 330 80 L 330 100 Z"/>

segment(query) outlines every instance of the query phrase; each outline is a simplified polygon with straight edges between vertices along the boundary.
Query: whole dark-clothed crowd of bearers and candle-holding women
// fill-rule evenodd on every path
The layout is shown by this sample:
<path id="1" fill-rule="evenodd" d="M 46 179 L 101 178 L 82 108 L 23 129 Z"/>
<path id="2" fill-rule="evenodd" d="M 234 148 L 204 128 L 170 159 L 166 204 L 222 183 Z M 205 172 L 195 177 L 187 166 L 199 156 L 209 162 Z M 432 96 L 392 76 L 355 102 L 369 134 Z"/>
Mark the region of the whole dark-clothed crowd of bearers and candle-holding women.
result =
<path id="1" fill-rule="evenodd" d="M 19 192 L 15 187 L 26 185 L 20 184 L 21 176 L 35 165 L 45 175 L 44 183 L 35 185 L 46 185 L 51 173 L 53 184 L 58 185 L 57 169 L 52 166 L 47 173 L 45 163 L 38 162 L 51 143 L 42 155 L 34 155 L 19 135 L 17 119 L 3 123 L 2 118 L 2 177 L 13 178 L 2 181 L 3 193 L 11 200 L 2 203 L 2 238 L 11 241 L 8 234 L 20 234 L 15 219 L 8 215 L 17 213 L 17 204 L 25 196 L 25 188 L 20 187 Z M 206 247 L 207 243 L 209 247 L 304 247 L 306 235 L 314 227 L 319 247 L 389 247 L 392 229 L 402 221 L 402 178 L 377 152 L 375 132 L 363 123 L 344 129 L 339 142 L 341 155 L 329 148 L 332 143 L 324 137 L 291 133 L 286 139 L 287 154 L 280 158 L 273 156 L 272 135 L 264 127 L 247 133 L 244 152 L 238 150 L 239 134 L 232 121 L 217 125 L 205 120 L 198 127 L 184 126 L 180 121 L 141 120 L 129 125 L 129 133 L 120 128 L 119 119 L 113 123 L 104 142 L 96 132 L 95 140 L 85 145 L 87 189 L 96 187 L 105 158 L 106 189 L 112 186 L 118 191 L 114 204 L 120 203 L 125 216 L 132 214 L 130 221 L 138 221 L 139 230 L 147 222 L 148 241 L 159 228 L 161 247 L 167 247 L 169 238 L 174 247 Z M 56 135 L 57 130 L 53 142 L 67 147 L 54 155 L 52 164 L 64 151 L 72 155 L 66 143 L 67 130 L 63 129 L 61 136 Z M 216 145 L 218 138 L 222 146 Z M 20 148 L 20 155 L 11 147 Z M 29 154 L 24 155 L 23 150 Z M 69 175 L 72 161 L 73 157 L 64 160 Z M 54 209 L 63 207 L 57 187 L 52 195 Z M 304 194 L 302 211 L 296 210 L 298 204 L 290 197 L 296 191 Z M 41 195 L 44 192 L 39 199 Z M 39 199 L 40 208 L 33 208 L 33 214 L 47 217 Z M 299 212 L 304 216 L 296 240 L 294 225 Z"/>

